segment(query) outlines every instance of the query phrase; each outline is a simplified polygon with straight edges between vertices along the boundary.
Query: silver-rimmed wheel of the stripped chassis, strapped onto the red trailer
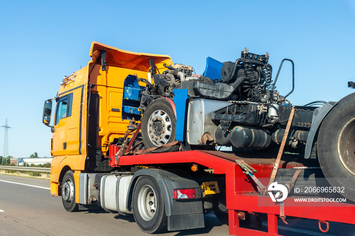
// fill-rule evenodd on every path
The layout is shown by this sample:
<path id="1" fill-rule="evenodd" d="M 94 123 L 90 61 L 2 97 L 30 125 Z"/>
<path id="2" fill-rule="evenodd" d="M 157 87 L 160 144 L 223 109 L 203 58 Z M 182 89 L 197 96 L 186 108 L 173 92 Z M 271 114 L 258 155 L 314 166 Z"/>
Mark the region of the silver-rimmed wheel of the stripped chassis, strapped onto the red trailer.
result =
<path id="1" fill-rule="evenodd" d="M 147 149 L 175 141 L 176 117 L 168 100 L 159 98 L 147 106 L 142 117 L 141 133 Z M 179 145 L 174 145 L 158 148 L 152 152 L 170 152 L 178 148 Z"/>

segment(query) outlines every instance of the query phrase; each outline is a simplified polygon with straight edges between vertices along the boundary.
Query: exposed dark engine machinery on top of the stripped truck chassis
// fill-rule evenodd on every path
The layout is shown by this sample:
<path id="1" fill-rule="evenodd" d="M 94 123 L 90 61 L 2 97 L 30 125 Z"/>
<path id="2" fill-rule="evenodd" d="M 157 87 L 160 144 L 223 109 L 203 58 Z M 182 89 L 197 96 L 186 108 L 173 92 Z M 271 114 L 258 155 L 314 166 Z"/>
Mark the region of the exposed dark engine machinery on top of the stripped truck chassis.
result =
<path id="1" fill-rule="evenodd" d="M 251 101 L 277 103 L 279 96 L 271 80 L 272 67 L 269 56 L 248 53 L 244 49 L 241 58 L 234 63 L 225 62 L 221 69 L 221 79 L 192 74 L 193 67 L 182 64 L 165 65 L 167 70 L 154 75 L 154 86 L 150 84 L 143 94 L 151 97 L 142 99 L 147 105 L 154 96 L 173 97 L 173 89 L 188 89 L 190 97 L 217 100 Z"/>

